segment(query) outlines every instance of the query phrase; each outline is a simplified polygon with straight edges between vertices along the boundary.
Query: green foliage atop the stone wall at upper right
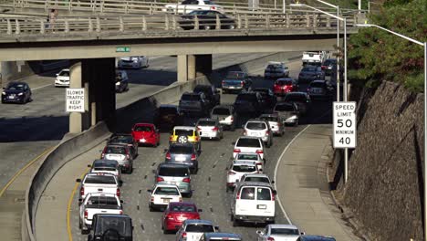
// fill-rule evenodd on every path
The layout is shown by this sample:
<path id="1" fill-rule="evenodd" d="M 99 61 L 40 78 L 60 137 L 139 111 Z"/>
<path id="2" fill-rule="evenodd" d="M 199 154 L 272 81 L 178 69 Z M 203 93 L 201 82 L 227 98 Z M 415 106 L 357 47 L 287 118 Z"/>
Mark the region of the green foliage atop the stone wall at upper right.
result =
<path id="1" fill-rule="evenodd" d="M 402 2 L 393 0 L 397 4 Z M 424 42 L 427 40 L 427 0 L 392 5 L 370 23 Z M 366 27 L 349 39 L 349 79 L 376 87 L 381 80 L 403 83 L 412 91 L 423 89 L 423 47 L 376 27 Z"/>

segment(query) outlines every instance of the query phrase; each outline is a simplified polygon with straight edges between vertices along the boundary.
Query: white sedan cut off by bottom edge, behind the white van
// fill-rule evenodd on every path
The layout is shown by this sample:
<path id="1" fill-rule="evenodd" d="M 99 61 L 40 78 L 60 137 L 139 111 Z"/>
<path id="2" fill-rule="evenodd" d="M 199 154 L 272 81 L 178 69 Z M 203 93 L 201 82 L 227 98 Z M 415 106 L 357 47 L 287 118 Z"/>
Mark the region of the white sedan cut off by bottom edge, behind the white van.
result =
<path id="1" fill-rule="evenodd" d="M 257 230 L 258 241 L 297 241 L 304 233 L 299 232 L 295 225 L 266 225 L 264 230 Z"/>

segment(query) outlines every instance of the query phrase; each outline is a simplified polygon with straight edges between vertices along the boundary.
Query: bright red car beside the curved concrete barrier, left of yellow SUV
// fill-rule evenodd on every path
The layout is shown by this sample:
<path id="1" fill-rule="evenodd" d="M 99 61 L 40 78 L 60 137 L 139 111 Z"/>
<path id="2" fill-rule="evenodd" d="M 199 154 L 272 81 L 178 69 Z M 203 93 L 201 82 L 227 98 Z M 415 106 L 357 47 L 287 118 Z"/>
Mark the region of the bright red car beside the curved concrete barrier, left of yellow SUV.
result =
<path id="1" fill-rule="evenodd" d="M 132 136 L 140 144 L 158 146 L 160 144 L 160 132 L 154 124 L 137 123 L 132 128 Z"/>

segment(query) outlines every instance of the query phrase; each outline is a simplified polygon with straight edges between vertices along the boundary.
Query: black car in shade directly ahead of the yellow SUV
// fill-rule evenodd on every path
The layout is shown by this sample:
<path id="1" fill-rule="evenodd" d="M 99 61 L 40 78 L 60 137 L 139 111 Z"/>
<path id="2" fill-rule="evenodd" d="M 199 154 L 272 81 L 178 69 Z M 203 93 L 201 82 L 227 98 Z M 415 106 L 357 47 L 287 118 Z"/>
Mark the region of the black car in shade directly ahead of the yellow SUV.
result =
<path id="1" fill-rule="evenodd" d="M 161 105 L 154 113 L 154 124 L 159 128 L 182 125 L 182 113 L 178 106 Z"/>

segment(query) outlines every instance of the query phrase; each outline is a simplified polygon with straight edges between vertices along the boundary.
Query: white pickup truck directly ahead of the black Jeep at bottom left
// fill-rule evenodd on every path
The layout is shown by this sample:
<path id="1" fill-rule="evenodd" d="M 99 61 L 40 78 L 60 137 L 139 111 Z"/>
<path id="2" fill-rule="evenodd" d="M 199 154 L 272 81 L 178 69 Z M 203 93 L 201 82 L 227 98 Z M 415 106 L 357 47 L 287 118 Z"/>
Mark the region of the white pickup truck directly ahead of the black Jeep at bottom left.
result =
<path id="1" fill-rule="evenodd" d="M 87 194 L 80 205 L 78 227 L 85 235 L 92 227 L 93 215 L 122 215 L 123 207 L 119 197 L 115 194 Z"/>

